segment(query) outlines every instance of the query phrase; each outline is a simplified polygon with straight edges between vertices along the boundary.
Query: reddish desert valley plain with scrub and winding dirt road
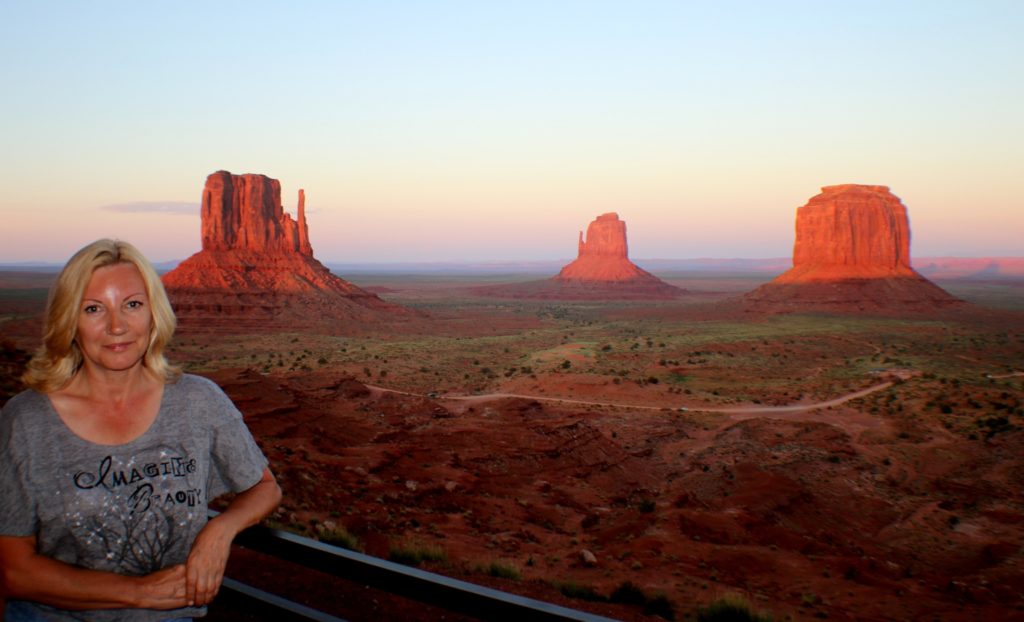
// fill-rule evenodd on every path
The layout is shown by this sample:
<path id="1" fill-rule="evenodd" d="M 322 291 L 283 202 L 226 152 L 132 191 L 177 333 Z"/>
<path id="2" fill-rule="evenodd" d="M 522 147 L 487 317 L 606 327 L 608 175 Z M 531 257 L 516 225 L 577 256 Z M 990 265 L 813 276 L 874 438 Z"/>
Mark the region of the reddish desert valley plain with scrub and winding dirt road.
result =
<path id="1" fill-rule="evenodd" d="M 0 276 L 0 400 L 52 278 L 26 275 Z M 170 356 L 245 414 L 285 491 L 276 527 L 627 620 L 726 594 L 776 620 L 1024 619 L 1024 283 L 938 281 L 974 303 L 940 315 L 768 316 L 733 302 L 764 275 L 657 276 L 686 293 L 513 300 L 474 288 L 532 277 L 366 274 L 419 315 L 189 329 Z M 402 607 L 246 559 L 236 574 L 347 619 Z"/>

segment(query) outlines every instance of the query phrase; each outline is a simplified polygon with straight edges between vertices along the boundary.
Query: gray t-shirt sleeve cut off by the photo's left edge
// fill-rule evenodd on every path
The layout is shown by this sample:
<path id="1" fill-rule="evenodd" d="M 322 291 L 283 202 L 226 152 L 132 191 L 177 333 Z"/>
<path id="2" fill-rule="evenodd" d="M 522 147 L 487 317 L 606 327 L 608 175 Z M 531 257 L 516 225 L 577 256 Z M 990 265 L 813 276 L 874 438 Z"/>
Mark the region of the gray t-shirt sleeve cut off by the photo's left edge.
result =
<path id="1" fill-rule="evenodd" d="M 0 410 L 0 536 L 32 536 L 39 529 L 36 501 L 26 479 L 28 456 L 15 438 L 23 402 L 13 398 Z"/>

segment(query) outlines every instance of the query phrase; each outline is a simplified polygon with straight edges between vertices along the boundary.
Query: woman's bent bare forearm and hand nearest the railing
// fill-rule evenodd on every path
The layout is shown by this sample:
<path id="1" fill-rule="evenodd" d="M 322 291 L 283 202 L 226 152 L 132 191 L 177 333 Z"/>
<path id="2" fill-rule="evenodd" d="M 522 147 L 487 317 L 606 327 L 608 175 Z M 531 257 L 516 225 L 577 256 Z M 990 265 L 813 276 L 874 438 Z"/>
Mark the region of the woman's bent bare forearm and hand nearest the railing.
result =
<path id="1" fill-rule="evenodd" d="M 188 605 L 201 607 L 213 600 L 224 578 L 231 541 L 239 532 L 259 523 L 281 503 L 281 487 L 269 468 L 255 486 L 239 493 L 227 509 L 210 520 L 196 536 L 188 553 L 185 592 Z"/>

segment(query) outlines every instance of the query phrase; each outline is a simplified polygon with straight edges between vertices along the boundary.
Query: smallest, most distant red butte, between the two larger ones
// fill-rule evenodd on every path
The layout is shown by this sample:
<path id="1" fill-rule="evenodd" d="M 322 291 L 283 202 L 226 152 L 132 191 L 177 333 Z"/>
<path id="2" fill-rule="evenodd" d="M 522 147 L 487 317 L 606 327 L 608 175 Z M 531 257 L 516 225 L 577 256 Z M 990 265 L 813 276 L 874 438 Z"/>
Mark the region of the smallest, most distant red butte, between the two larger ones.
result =
<path id="1" fill-rule="evenodd" d="M 580 232 L 575 260 L 557 276 L 474 291 L 488 296 L 563 300 L 666 300 L 685 293 L 630 261 L 626 222 L 614 212 L 595 218 L 587 226 L 586 240 Z"/>

